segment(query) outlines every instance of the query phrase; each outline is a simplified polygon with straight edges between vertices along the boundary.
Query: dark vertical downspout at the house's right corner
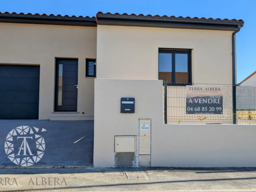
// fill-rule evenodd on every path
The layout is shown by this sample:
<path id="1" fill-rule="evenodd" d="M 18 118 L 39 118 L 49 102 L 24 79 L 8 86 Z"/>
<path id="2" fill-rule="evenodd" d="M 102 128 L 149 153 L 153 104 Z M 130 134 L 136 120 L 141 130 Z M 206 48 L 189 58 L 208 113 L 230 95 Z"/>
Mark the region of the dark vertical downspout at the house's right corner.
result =
<path id="1" fill-rule="evenodd" d="M 236 98 L 236 45 L 235 35 L 241 29 L 240 25 L 237 25 L 237 30 L 232 33 L 232 97 L 233 97 L 233 123 L 237 124 L 237 98 Z"/>

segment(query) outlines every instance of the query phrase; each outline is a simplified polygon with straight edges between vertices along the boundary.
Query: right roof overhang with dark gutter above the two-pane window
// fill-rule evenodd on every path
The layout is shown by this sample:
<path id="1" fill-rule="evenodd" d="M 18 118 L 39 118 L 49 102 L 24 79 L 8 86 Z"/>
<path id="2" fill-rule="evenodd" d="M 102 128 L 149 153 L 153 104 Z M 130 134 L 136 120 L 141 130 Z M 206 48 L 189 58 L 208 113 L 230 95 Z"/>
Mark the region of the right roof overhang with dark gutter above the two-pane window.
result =
<path id="1" fill-rule="evenodd" d="M 189 19 L 158 16 L 136 16 L 98 13 L 96 17 L 98 25 L 108 26 L 138 26 L 159 27 L 176 29 L 203 29 L 236 31 L 243 26 L 243 21 L 214 20 L 214 19 Z"/>

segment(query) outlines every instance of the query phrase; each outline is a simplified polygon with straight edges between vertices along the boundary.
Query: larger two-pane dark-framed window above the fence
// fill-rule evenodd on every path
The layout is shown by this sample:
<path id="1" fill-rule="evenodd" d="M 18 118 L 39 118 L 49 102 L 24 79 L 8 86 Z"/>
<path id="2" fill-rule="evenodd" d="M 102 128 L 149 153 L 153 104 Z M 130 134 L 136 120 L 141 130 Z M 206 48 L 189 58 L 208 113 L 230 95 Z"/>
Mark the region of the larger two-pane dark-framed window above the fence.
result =
<path id="1" fill-rule="evenodd" d="M 158 79 L 169 85 L 191 84 L 191 50 L 159 48 Z"/>

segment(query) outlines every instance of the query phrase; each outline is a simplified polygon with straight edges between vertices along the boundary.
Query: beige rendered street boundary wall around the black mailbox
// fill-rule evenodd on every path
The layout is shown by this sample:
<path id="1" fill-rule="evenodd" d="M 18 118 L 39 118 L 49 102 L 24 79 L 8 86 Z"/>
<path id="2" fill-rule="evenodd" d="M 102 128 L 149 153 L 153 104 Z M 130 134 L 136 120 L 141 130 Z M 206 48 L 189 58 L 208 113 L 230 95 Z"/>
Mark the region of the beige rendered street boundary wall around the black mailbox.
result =
<path id="1" fill-rule="evenodd" d="M 120 113 L 121 97 L 135 98 L 134 114 Z M 161 80 L 115 79 L 95 80 L 94 166 L 114 166 L 114 136 L 138 136 L 139 118 L 152 119 L 152 166 L 256 166 L 256 125 L 164 125 Z"/>

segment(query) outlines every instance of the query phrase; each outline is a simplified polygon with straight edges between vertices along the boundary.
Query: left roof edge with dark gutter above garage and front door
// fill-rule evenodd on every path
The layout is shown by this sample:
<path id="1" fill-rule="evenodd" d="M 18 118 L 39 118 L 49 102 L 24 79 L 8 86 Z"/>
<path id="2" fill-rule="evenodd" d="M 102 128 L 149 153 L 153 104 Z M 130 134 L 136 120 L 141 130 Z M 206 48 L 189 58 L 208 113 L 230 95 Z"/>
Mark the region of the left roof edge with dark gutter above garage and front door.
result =
<path id="1" fill-rule="evenodd" d="M 96 18 L 0 14 L 0 22 L 96 27 Z"/>

